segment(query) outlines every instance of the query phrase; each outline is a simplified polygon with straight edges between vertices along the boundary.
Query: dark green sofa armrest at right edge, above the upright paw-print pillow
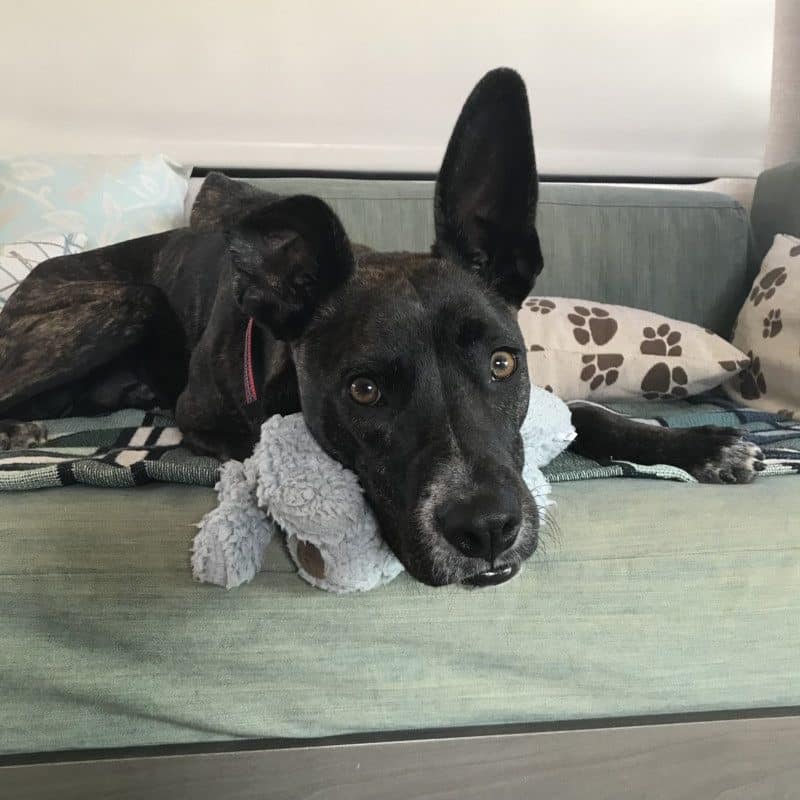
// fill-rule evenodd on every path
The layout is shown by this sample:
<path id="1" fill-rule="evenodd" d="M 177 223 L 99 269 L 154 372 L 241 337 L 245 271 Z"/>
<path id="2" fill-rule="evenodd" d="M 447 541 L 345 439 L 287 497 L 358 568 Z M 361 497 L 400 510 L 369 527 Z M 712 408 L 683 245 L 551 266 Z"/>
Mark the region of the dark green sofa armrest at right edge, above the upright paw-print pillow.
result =
<path id="1" fill-rule="evenodd" d="M 753 256 L 758 264 L 776 233 L 800 236 L 800 161 L 762 172 L 756 182 L 753 208 Z"/>

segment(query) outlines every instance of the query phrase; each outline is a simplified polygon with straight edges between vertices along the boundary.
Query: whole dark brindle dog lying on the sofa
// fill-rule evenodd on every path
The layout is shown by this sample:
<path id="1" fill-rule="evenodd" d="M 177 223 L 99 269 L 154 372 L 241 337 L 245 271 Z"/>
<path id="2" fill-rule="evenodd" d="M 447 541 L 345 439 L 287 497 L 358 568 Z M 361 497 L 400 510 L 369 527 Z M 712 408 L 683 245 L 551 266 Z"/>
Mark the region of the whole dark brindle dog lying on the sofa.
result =
<path id="1" fill-rule="evenodd" d="M 33 270 L 0 316 L 0 414 L 171 408 L 193 450 L 242 458 L 265 419 L 302 409 L 413 576 L 499 583 L 539 535 L 517 325 L 542 269 L 537 193 L 525 86 L 507 69 L 456 123 L 430 254 L 351 246 L 321 200 L 212 175 L 191 228 Z M 573 417 L 594 458 L 730 483 L 762 468 L 733 429 L 665 430 L 590 404 Z M 44 436 L 4 423 L 0 447 Z"/>

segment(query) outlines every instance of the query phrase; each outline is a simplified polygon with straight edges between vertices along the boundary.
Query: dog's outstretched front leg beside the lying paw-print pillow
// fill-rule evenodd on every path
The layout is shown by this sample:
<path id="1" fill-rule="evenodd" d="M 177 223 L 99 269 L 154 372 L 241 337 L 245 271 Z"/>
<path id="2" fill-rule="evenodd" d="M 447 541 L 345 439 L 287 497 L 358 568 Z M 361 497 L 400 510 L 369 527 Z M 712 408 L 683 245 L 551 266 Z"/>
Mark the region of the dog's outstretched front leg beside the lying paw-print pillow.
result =
<path id="1" fill-rule="evenodd" d="M 608 462 L 671 464 L 702 483 L 749 483 L 764 469 L 761 450 L 736 428 L 663 428 L 592 403 L 570 403 L 578 436 L 571 449 Z"/>

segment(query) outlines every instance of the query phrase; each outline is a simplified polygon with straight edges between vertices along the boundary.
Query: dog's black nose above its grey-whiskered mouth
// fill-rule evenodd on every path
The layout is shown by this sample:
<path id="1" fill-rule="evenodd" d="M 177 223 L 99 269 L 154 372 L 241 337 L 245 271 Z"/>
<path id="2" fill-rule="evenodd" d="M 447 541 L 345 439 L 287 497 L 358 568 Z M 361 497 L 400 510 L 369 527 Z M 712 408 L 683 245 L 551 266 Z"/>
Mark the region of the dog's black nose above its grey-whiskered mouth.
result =
<path id="1" fill-rule="evenodd" d="M 453 547 L 466 556 L 493 563 L 517 539 L 519 503 L 502 491 L 475 494 L 443 504 L 436 519 Z"/>

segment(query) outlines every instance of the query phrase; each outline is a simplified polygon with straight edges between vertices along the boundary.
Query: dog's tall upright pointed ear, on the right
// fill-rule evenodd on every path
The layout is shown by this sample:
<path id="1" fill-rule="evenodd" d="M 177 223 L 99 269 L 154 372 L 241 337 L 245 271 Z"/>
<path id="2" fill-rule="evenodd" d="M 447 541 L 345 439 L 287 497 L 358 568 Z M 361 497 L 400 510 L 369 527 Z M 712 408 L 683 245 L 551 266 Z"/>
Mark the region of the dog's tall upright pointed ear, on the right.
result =
<path id="1" fill-rule="evenodd" d="M 434 253 L 479 272 L 520 306 L 542 269 L 538 183 L 525 84 L 485 75 L 467 98 L 436 183 Z"/>

